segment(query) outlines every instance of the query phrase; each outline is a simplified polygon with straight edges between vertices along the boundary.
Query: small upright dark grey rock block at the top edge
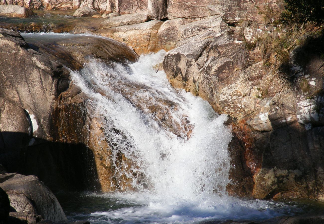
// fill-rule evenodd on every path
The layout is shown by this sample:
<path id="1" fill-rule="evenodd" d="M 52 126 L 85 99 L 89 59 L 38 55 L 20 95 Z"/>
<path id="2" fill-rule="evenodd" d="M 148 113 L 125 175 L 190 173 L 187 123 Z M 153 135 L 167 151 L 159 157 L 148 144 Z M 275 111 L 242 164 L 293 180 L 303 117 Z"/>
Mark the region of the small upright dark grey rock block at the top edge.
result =
<path id="1" fill-rule="evenodd" d="M 167 0 L 148 0 L 147 12 L 151 19 L 160 20 L 168 17 Z"/>

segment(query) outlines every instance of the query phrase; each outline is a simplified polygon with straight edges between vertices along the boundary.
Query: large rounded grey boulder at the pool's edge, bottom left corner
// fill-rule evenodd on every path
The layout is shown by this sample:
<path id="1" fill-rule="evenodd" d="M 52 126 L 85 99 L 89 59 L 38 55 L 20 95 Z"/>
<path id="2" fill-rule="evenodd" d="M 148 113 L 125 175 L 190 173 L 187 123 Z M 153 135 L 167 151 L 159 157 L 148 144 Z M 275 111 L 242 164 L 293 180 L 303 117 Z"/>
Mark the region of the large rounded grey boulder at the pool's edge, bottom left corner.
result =
<path id="1" fill-rule="evenodd" d="M 9 195 L 10 206 L 19 212 L 15 214 L 18 217 L 38 219 L 40 215 L 53 222 L 67 221 L 54 194 L 36 176 L 0 174 L 0 187 Z"/>

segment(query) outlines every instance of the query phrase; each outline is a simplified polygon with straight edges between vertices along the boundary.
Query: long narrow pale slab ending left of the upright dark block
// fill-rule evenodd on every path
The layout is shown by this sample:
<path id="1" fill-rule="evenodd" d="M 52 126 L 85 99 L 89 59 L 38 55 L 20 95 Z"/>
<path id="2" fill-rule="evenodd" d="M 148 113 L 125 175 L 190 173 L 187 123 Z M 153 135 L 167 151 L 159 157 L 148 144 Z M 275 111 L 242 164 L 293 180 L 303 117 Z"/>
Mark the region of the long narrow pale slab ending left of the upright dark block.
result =
<path id="1" fill-rule="evenodd" d="M 100 28 L 105 29 L 110 27 L 120 27 L 124 25 L 144 23 L 148 20 L 149 17 L 145 13 L 126 14 L 122 16 L 109 18 L 103 21 L 102 23 L 100 23 Z"/>

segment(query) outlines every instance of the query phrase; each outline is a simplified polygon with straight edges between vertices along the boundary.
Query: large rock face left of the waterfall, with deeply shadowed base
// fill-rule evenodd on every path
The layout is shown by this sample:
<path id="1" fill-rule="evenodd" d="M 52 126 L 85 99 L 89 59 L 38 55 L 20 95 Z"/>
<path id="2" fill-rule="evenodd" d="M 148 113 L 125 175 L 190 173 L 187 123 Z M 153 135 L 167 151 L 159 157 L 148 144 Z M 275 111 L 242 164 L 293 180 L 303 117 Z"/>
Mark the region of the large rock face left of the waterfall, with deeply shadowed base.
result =
<path id="1" fill-rule="evenodd" d="M 0 69 L 3 80 L 0 87 L 6 88 L 6 90 L 1 89 L 3 94 L 0 106 L 1 163 L 9 172 L 37 175 L 56 191 L 62 189 L 114 191 L 116 187 L 121 188 L 112 179 L 112 166 L 102 162 L 103 153 L 108 153 L 107 156 L 111 153 L 107 150 L 108 145 L 98 145 L 97 138 L 103 135 L 103 130 L 100 129 L 96 120 L 87 118 L 86 97 L 73 83 L 67 83 L 69 73 L 64 69 L 60 60 L 62 63 L 68 62 L 66 65 L 72 70 L 78 70 L 82 68 L 82 64 L 88 60 L 90 55 L 107 63 L 135 61 L 138 55 L 131 48 L 112 39 L 79 37 L 78 40 L 73 38 L 57 40 L 54 38 L 56 42 L 50 42 L 45 38 L 47 42 L 42 42 L 41 39 L 36 41 L 29 38 L 29 43 L 35 50 L 38 50 L 35 51 L 28 47 L 18 33 L 1 29 L 1 35 L 0 41 L 3 41 L 3 44 L 0 45 L 0 51 L 6 54 L 8 62 L 8 64 L 1 64 Z M 53 48 L 53 46 L 56 47 Z M 52 52 L 56 54 L 52 55 Z M 20 55 L 27 58 L 37 57 L 38 61 L 31 61 L 27 65 L 26 63 L 20 64 L 19 62 L 26 62 L 20 58 Z M 2 69 L 7 69 L 9 64 L 14 64 L 10 60 L 18 63 L 15 72 L 7 70 L 5 73 Z M 27 67 L 31 72 L 30 78 L 41 83 L 37 77 L 32 75 L 32 72 L 37 72 L 38 77 L 41 77 L 43 81 L 42 88 L 48 90 L 49 93 L 46 98 L 49 103 L 48 113 L 41 115 L 42 120 L 38 117 L 40 111 L 33 114 L 34 116 L 25 113 L 25 110 L 27 111 L 24 109 L 25 105 L 34 106 L 37 103 L 36 100 L 34 103 L 29 103 L 29 99 L 33 100 L 32 97 L 26 97 L 30 91 L 25 89 L 24 95 L 19 95 L 20 88 L 29 86 L 29 79 L 25 76 L 19 79 L 13 78 L 17 77 L 19 73 L 16 72 L 25 69 L 25 66 L 30 66 Z M 43 73 L 43 69 L 47 69 L 47 72 Z M 46 82 L 46 80 L 51 82 Z M 23 101 L 11 100 L 11 95 L 8 95 L 9 90 L 7 90 L 11 82 L 18 92 L 15 96 L 21 97 Z M 38 89 L 33 87 L 33 90 Z M 40 92 L 39 95 L 42 93 Z M 43 105 L 43 108 L 45 106 Z M 28 108 L 29 113 L 31 109 Z M 19 121 L 21 125 L 15 125 L 16 123 L 8 125 L 13 121 Z M 47 134 L 44 131 L 46 129 L 42 129 L 42 132 L 35 132 L 36 125 L 48 126 L 50 131 Z M 22 213 L 17 215 L 23 217 L 28 211 L 19 212 Z"/>

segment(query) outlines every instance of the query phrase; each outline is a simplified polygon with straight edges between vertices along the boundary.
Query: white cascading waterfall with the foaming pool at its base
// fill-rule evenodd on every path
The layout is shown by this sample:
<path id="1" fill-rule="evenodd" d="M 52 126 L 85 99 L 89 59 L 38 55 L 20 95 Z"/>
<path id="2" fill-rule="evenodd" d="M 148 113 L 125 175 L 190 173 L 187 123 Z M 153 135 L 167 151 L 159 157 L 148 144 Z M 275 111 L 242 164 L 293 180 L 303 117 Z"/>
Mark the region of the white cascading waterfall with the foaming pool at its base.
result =
<path id="1" fill-rule="evenodd" d="M 197 223 L 302 212 L 298 206 L 227 195 L 232 136 L 223 124 L 226 115 L 217 115 L 200 97 L 175 90 L 156 69 L 164 55 L 160 51 L 129 67 L 115 63 L 113 68 L 93 59 L 80 72 L 71 72 L 74 84 L 88 96 L 90 116 L 107 133 L 101 140 L 114 152 L 107 159 L 116 166 L 116 178 L 132 179 L 135 191 L 63 201 L 70 220 Z M 136 164 L 132 171 L 118 165 L 117 151 Z"/>

